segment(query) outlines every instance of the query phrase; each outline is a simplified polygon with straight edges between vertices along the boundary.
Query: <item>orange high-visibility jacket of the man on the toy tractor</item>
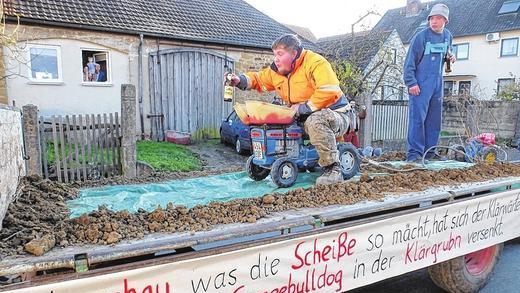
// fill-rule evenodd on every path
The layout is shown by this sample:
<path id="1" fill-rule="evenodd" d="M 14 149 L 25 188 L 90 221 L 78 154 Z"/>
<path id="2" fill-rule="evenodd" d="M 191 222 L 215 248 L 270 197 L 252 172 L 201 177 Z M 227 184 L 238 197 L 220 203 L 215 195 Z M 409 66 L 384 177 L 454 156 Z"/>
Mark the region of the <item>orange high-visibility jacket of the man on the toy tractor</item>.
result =
<path id="1" fill-rule="evenodd" d="M 287 104 L 306 102 L 311 111 L 327 108 L 343 96 L 330 63 L 321 55 L 302 50 L 288 76 L 279 74 L 274 63 L 259 72 L 248 72 L 246 89 L 276 91 Z"/>

